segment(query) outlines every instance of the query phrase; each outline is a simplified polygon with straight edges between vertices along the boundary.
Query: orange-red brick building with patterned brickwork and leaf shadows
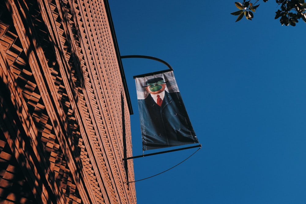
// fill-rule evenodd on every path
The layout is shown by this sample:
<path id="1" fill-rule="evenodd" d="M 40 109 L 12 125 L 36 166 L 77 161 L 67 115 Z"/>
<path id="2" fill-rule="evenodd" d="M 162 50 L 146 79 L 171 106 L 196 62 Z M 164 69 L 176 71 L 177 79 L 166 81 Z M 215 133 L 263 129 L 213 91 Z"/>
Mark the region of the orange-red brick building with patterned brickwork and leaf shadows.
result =
<path id="1" fill-rule="evenodd" d="M 107 0 L 0 1 L 0 114 L 0 203 L 136 203 Z"/>

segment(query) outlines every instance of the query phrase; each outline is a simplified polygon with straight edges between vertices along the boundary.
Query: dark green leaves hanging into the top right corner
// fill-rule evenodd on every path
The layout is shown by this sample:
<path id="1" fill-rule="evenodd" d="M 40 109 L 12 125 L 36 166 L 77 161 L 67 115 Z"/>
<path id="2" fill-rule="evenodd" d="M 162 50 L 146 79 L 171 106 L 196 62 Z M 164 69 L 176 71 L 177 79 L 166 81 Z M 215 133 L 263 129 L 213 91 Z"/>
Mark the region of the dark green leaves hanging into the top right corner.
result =
<path id="1" fill-rule="evenodd" d="M 246 19 L 252 20 L 254 17 L 257 7 L 256 3 L 259 0 L 256 0 L 253 4 L 251 1 L 243 0 L 243 3 L 235 2 L 235 6 L 239 9 L 238 11 L 235 11 L 231 13 L 234 16 L 237 17 L 237 21 L 241 20 L 243 16 L 245 16 Z M 268 0 L 263 0 L 263 2 L 267 2 Z M 295 24 L 298 21 L 298 19 L 302 18 L 304 22 L 306 23 L 306 3 L 304 0 L 275 0 L 275 2 L 280 6 L 280 9 L 276 11 L 275 19 L 280 18 L 280 23 L 282 25 L 292 25 L 295 26 Z"/>

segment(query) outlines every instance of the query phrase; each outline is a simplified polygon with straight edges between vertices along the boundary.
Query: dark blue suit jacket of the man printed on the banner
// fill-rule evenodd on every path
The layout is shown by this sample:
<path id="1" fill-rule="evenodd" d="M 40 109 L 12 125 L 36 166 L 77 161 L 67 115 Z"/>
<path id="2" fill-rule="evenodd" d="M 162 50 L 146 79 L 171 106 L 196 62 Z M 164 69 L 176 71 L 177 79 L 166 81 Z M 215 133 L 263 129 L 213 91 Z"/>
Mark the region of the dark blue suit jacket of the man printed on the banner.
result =
<path id="1" fill-rule="evenodd" d="M 151 95 L 138 105 L 144 150 L 198 143 L 179 92 L 165 91 L 162 106 Z"/>

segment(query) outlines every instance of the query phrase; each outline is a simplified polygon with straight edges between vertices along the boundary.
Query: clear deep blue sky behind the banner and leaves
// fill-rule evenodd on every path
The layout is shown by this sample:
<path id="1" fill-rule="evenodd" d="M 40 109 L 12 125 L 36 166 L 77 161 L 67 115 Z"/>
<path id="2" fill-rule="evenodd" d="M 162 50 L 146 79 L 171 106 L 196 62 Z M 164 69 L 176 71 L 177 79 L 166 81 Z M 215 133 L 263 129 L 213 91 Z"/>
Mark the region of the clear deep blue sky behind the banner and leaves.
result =
<path id="1" fill-rule="evenodd" d="M 203 145 L 176 168 L 136 182 L 138 203 L 306 203 L 306 24 L 281 26 L 275 1 L 259 2 L 252 21 L 236 23 L 234 0 L 109 2 L 121 55 L 158 57 L 173 67 Z M 142 146 L 133 76 L 167 67 L 122 62 L 136 156 Z M 135 179 L 195 150 L 136 158 Z"/>

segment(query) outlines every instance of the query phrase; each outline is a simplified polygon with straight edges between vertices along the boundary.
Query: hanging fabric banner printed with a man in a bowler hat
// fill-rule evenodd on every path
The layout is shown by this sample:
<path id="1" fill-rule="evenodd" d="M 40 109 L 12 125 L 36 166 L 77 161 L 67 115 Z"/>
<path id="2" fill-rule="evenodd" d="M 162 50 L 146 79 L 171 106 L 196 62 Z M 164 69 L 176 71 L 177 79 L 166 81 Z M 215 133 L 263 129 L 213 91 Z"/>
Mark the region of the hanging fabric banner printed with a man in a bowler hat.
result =
<path id="1" fill-rule="evenodd" d="M 173 71 L 161 72 L 134 76 L 143 150 L 199 143 Z"/>

